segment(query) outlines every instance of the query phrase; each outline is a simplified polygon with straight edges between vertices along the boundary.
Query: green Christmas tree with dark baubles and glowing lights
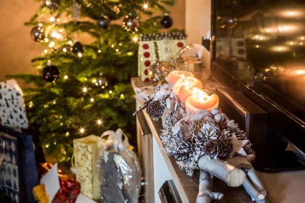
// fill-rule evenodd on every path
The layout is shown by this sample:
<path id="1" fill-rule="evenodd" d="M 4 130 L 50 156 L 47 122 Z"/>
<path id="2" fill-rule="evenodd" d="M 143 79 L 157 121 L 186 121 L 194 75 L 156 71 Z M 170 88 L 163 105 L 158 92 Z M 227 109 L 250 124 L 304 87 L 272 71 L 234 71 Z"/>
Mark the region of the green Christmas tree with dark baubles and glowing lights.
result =
<path id="1" fill-rule="evenodd" d="M 26 112 L 48 154 L 60 152 L 57 160 L 68 163 L 73 139 L 117 128 L 135 134 L 130 79 L 137 75 L 139 34 L 172 24 L 168 15 L 141 19 L 175 2 L 42 1 L 25 23 L 35 42 L 48 44 L 32 59 L 40 74 L 13 77 L 35 84 L 23 90 Z"/>

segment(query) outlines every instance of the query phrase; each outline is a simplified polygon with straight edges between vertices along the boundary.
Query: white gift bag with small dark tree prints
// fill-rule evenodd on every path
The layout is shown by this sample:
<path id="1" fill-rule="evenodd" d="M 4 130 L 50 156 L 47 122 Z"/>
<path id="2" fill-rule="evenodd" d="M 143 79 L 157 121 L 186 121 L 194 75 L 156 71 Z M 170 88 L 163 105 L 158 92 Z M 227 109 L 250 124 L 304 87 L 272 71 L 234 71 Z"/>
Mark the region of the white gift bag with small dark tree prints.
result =
<path id="1" fill-rule="evenodd" d="M 8 127 L 28 127 L 23 93 L 14 79 L 0 82 L 0 119 Z"/>

